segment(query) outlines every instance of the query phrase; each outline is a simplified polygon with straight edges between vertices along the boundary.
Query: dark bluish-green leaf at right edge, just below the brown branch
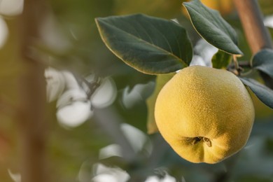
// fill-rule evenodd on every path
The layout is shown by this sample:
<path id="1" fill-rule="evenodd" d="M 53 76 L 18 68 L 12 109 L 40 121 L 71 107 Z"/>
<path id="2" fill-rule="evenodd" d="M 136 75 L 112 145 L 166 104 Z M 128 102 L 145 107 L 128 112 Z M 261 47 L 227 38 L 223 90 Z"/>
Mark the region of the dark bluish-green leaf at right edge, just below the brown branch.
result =
<path id="1" fill-rule="evenodd" d="M 252 58 L 252 67 L 273 78 L 273 50 L 263 49 Z"/>

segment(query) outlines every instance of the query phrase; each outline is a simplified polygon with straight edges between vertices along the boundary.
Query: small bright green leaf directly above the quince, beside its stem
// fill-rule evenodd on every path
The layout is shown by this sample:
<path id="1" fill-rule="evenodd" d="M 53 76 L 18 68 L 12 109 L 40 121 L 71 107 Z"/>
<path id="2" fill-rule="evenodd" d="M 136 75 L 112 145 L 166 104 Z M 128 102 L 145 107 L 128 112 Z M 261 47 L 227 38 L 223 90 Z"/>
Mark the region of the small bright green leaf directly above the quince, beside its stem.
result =
<path id="1" fill-rule="evenodd" d="M 227 52 L 223 52 L 222 50 L 218 50 L 214 57 L 212 57 L 211 62 L 212 66 L 216 69 L 223 69 L 230 64 L 232 59 L 232 55 L 228 54 Z"/>

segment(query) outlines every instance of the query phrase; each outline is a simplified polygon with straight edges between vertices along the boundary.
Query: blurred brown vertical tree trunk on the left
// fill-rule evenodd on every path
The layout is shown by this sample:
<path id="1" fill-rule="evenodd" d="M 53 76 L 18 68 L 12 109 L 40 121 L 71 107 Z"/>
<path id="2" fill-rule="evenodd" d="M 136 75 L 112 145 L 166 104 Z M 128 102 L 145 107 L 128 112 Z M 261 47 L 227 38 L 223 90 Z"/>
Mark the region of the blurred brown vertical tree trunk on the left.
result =
<path id="1" fill-rule="evenodd" d="M 22 182 L 45 182 L 45 78 L 44 65 L 31 57 L 31 47 L 38 38 L 45 6 L 42 0 L 25 0 L 20 16 L 21 61 L 24 70 L 20 78 L 20 111 L 18 130 Z"/>

